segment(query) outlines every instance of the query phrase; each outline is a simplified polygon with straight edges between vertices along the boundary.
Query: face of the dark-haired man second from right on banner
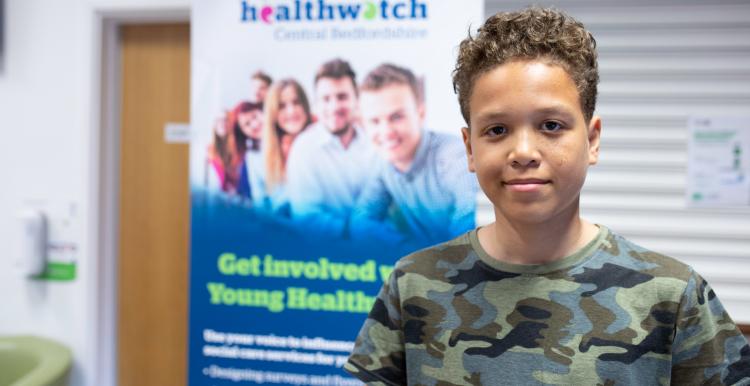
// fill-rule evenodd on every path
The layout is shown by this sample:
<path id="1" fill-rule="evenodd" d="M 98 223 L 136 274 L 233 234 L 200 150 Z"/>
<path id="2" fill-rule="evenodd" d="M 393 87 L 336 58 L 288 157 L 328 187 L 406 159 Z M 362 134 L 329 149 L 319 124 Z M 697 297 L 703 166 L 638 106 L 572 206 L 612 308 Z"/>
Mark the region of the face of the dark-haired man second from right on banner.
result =
<path id="1" fill-rule="evenodd" d="M 357 91 L 351 78 L 320 78 L 315 85 L 315 95 L 323 126 L 333 134 L 346 133 L 357 115 Z"/>

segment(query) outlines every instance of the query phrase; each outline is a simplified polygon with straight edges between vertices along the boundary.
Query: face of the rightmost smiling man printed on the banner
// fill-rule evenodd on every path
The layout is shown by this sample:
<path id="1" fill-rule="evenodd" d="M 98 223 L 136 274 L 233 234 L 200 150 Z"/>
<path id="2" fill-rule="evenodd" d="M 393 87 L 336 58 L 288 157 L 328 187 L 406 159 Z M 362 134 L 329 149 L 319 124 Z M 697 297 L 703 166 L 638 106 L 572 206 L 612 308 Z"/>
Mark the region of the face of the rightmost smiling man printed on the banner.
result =
<path id="1" fill-rule="evenodd" d="M 405 84 L 363 91 L 362 124 L 378 152 L 399 170 L 414 159 L 421 139 L 424 108 Z"/>

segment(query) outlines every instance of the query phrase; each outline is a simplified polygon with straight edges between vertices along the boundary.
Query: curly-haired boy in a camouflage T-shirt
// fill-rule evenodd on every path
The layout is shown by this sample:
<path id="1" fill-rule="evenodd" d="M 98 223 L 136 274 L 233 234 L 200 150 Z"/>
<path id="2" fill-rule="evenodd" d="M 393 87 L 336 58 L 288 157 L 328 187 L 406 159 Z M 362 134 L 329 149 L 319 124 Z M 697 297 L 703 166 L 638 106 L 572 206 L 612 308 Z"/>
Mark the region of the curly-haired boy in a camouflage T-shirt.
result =
<path id="1" fill-rule="evenodd" d="M 368 383 L 749 384 L 705 280 L 579 217 L 601 121 L 595 42 L 558 11 L 498 13 L 453 77 L 496 221 L 401 259 L 346 369 Z"/>

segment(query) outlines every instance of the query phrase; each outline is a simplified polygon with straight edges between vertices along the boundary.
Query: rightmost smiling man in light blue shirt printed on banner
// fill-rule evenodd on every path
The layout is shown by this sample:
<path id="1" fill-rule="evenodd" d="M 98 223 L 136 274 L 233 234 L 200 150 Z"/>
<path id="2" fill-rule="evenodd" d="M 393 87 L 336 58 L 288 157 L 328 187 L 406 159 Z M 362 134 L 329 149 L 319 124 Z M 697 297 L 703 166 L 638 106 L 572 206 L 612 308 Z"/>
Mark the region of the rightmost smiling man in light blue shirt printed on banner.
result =
<path id="1" fill-rule="evenodd" d="M 352 235 L 418 247 L 472 229 L 476 180 L 460 139 L 423 128 L 414 74 L 382 64 L 365 77 L 360 94 L 365 133 L 381 161 L 357 201 Z"/>

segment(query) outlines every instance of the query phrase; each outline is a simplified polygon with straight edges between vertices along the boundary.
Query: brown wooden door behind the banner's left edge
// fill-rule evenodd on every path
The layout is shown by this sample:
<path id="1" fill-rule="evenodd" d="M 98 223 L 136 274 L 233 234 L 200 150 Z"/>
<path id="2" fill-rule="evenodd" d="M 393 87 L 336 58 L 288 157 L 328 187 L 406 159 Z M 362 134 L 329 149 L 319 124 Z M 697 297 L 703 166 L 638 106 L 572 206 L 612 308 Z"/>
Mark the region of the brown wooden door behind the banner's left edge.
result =
<path id="1" fill-rule="evenodd" d="M 118 384 L 186 384 L 188 145 L 164 141 L 188 122 L 188 24 L 121 28 Z"/>

